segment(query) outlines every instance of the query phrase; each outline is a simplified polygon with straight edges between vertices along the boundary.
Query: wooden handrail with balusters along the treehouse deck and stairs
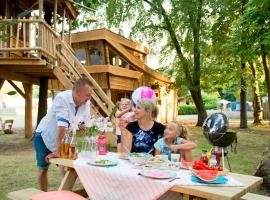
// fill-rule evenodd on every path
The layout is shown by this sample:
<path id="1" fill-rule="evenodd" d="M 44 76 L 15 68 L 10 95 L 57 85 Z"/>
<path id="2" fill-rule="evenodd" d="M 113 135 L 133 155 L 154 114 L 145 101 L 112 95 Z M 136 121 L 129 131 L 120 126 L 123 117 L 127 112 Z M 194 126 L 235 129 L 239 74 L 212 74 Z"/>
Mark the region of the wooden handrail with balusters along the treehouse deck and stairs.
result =
<path id="1" fill-rule="evenodd" d="M 7 23 L 9 22 L 9 23 Z M 16 23 L 15 23 L 16 22 Z M 80 63 L 77 57 L 74 55 L 71 47 L 62 41 L 57 33 L 42 19 L 0 19 L 0 23 L 6 23 L 10 28 L 9 34 L 13 37 L 13 30 L 16 31 L 14 37 L 16 38 L 15 48 L 12 47 L 12 42 L 9 45 L 0 45 L 0 49 L 5 52 L 19 51 L 23 48 L 29 53 L 37 54 L 41 58 L 41 55 L 48 58 L 47 62 L 53 64 L 54 67 L 59 67 L 64 73 L 69 73 L 72 76 L 71 82 L 74 82 L 74 78 L 78 79 L 84 74 L 93 84 L 95 89 L 93 97 L 103 110 L 105 109 L 104 102 L 107 105 L 108 110 L 104 112 L 108 115 L 114 107 L 114 103 L 98 85 L 95 79 L 89 74 L 89 72 Z M 31 24 L 34 24 L 33 29 L 35 31 L 34 45 L 30 46 L 31 42 Z M 28 27 L 28 30 L 27 28 Z M 13 29 L 14 28 L 14 29 Z M 41 30 L 41 31 L 37 31 Z M 19 39 L 22 35 L 23 47 L 19 46 Z M 28 37 L 26 35 L 28 34 Z M 40 34 L 40 35 L 38 35 Z M 37 36 L 37 37 L 36 37 Z M 1 43 L 2 44 L 2 43 Z M 8 44 L 8 42 L 6 42 Z M 8 47 L 9 46 L 9 47 Z M 28 46 L 28 47 L 27 47 Z M 82 74 L 81 74 L 82 72 Z M 100 102 L 99 102 L 100 99 Z M 105 106 L 105 107 L 104 107 Z"/>

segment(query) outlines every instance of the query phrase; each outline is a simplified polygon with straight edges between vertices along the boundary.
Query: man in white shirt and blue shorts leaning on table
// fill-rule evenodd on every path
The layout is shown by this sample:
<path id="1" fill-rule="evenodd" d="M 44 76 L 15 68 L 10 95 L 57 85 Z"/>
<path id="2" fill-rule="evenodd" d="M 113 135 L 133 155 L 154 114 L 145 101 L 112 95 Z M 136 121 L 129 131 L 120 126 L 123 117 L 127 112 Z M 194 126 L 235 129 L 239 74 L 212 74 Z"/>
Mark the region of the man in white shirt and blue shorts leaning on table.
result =
<path id="1" fill-rule="evenodd" d="M 33 143 L 41 190 L 48 190 L 48 160 L 60 157 L 65 132 L 77 127 L 78 123 L 89 123 L 92 92 L 92 83 L 84 78 L 79 79 L 72 90 L 61 92 L 55 97 L 50 110 L 40 121 Z"/>

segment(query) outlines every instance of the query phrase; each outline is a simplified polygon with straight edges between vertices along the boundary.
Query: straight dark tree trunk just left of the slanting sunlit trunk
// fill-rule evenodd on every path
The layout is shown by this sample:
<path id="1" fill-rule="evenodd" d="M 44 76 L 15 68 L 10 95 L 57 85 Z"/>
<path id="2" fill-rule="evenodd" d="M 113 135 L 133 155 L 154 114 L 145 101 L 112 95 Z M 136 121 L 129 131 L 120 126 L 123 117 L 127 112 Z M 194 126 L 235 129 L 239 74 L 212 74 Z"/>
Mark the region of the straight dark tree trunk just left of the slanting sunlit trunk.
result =
<path id="1" fill-rule="evenodd" d="M 241 77 L 241 91 L 240 91 L 240 128 L 247 128 L 247 96 L 246 96 L 246 81 L 243 76 L 246 70 L 246 64 L 241 64 L 242 77 Z"/>

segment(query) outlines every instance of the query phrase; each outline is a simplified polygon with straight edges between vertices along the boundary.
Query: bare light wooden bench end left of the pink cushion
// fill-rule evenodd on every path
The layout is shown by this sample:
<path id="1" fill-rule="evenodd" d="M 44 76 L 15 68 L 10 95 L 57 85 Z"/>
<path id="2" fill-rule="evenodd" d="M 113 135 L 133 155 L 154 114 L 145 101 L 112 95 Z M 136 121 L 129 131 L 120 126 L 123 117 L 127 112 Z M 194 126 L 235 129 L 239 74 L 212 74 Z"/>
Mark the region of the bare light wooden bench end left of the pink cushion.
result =
<path id="1" fill-rule="evenodd" d="M 27 188 L 8 193 L 8 198 L 12 200 L 30 200 L 34 194 L 42 193 L 43 191 L 35 188 Z"/>

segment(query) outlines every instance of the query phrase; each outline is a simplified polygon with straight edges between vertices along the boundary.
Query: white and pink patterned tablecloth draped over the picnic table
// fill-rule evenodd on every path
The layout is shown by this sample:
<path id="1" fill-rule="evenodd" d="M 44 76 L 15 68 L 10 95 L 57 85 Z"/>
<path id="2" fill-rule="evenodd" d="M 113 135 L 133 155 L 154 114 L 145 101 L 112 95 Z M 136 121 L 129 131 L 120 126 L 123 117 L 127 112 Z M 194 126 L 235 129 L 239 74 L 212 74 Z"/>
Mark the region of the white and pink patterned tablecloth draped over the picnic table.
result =
<path id="1" fill-rule="evenodd" d="M 79 157 L 74 162 L 75 170 L 91 200 L 150 200 L 158 199 L 174 185 L 204 185 L 191 181 L 188 170 L 177 171 L 177 179 L 150 179 L 138 175 L 141 169 L 134 168 L 128 160 L 118 159 L 117 154 L 102 156 L 118 162 L 114 167 L 97 167 L 87 164 L 89 158 Z M 243 186 L 242 183 L 227 176 L 228 182 L 220 186 Z"/>

